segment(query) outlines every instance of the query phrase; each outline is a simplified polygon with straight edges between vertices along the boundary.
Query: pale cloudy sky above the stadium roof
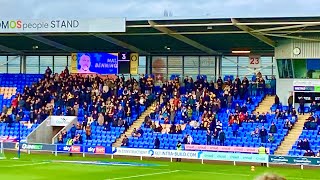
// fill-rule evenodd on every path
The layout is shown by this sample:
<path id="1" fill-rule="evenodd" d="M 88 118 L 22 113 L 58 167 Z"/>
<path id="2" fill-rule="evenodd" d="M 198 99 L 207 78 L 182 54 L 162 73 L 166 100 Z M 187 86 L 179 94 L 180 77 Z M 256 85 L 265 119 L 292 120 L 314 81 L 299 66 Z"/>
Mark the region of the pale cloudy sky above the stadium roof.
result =
<path id="1" fill-rule="evenodd" d="M 320 0 L 0 0 L 0 17 L 161 18 L 318 16 Z M 1 19 L 0 18 L 0 19 Z"/>

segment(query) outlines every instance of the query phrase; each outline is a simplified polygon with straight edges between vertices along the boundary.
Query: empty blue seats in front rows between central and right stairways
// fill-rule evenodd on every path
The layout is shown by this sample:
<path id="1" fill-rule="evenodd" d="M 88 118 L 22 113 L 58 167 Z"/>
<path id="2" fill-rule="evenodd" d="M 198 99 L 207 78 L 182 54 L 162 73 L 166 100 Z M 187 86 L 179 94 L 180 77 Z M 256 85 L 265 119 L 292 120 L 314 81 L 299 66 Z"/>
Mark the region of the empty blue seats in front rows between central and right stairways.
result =
<path id="1" fill-rule="evenodd" d="M 270 148 L 270 153 L 273 154 L 288 134 L 288 129 L 283 128 L 284 120 L 276 121 L 274 120 L 274 114 L 270 114 L 267 116 L 267 123 L 242 123 L 242 127 L 240 127 L 238 131 L 238 137 L 233 137 L 232 128 L 228 127 L 228 119 L 223 114 L 225 113 L 219 113 L 219 119 L 222 121 L 223 130 L 226 133 L 226 146 L 259 147 L 263 144 L 265 147 Z M 273 134 L 275 139 L 273 143 L 261 143 L 260 138 L 251 136 L 251 132 L 254 131 L 256 127 L 261 128 L 264 126 L 269 132 L 272 122 L 275 123 L 278 129 L 277 133 Z M 162 124 L 162 126 L 167 130 L 170 128 L 170 125 Z M 182 134 L 155 133 L 150 128 L 144 128 L 144 125 L 141 126 L 141 129 L 144 131 L 144 134 L 140 138 L 129 137 L 129 147 L 153 148 L 154 140 L 158 137 L 160 140 L 160 149 L 175 149 L 177 142 L 182 141 L 187 134 L 193 138 L 195 144 L 206 145 L 206 130 L 192 129 L 189 125 L 182 131 Z M 214 145 L 214 142 L 212 145 Z"/>

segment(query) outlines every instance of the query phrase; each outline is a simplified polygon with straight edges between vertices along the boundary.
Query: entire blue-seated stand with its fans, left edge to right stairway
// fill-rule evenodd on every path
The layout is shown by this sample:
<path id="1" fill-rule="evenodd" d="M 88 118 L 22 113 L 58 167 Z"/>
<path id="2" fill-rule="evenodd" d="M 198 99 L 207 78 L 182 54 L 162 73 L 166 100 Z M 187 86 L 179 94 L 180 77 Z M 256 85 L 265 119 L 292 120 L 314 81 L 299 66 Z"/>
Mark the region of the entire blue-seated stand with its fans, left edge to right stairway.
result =
<path id="1" fill-rule="evenodd" d="M 78 124 L 59 135 L 57 143 L 62 144 L 73 139 L 75 144 L 110 146 L 152 104 L 156 92 L 157 99 L 162 93 L 163 103 L 153 105 L 153 112 L 145 117 L 141 127 L 125 139 L 128 147 L 154 148 L 155 139 L 160 140 L 161 149 L 175 149 L 178 141 L 240 147 L 259 147 L 262 143 L 274 153 L 290 129 L 284 125 L 288 122 L 293 125 L 296 121 L 291 115 L 279 115 L 287 110 L 281 104 L 270 108 L 274 113 L 254 112 L 265 95 L 273 93 L 266 88 L 261 74 L 253 76 L 251 82 L 246 77 L 240 80 L 225 76 L 216 83 L 209 83 L 205 75 L 199 75 L 195 82 L 192 78 L 184 79 L 184 86 L 180 86 L 179 76 L 173 75 L 161 88 L 154 87 L 149 75 L 138 82 L 124 77 L 70 75 L 67 69 L 60 75 L 53 75 L 47 69 L 45 76 L 0 77 L 7 80 L 0 89 L 4 94 L 1 104 L 9 106 L 12 101 L 12 120 L 21 116 L 22 121 L 35 123 L 30 128 L 21 125 L 23 138 L 49 115 L 78 117 Z M 33 91 L 36 94 L 33 95 Z M 145 93 L 148 96 L 144 96 Z M 43 103 L 37 95 L 44 96 Z M 34 96 L 31 102 L 27 100 L 29 96 Z M 21 99 L 25 101 L 22 106 Z M 126 108 L 127 105 L 130 108 Z M 1 135 L 17 136 L 18 126 L 2 123 Z"/>

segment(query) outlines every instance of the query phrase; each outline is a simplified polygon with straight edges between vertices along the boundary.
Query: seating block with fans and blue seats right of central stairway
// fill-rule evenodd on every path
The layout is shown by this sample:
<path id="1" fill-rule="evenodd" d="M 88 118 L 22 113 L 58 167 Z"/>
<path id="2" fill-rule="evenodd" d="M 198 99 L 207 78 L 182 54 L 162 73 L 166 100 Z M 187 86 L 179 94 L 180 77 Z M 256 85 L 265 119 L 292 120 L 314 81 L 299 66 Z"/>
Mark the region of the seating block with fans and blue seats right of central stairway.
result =
<path id="1" fill-rule="evenodd" d="M 259 147 L 262 143 L 273 154 L 288 133 L 284 122 L 294 123 L 295 118 L 253 113 L 265 94 L 271 94 L 263 81 L 261 75 L 257 84 L 246 78 L 241 82 L 238 77 L 226 76 L 224 80 L 219 78 L 215 87 L 205 76 L 198 76 L 194 83 L 192 78 L 185 79 L 181 95 L 177 93 L 161 108 L 155 107 L 155 113 L 146 117 L 126 145 L 175 149 L 178 141 L 241 147 Z M 177 76 L 171 77 L 171 82 L 178 82 Z M 273 131 L 269 133 L 271 127 Z"/>

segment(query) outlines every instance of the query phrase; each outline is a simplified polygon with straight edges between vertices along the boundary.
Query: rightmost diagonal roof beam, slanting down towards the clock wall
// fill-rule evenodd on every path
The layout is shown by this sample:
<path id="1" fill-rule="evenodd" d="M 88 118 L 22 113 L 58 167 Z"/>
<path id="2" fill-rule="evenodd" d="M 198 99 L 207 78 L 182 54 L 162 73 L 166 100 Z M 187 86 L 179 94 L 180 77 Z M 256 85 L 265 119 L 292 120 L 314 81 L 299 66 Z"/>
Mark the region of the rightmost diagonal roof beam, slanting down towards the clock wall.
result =
<path id="1" fill-rule="evenodd" d="M 234 26 L 236 26 L 239 29 L 247 32 L 248 34 L 252 35 L 253 37 L 256 37 L 257 39 L 263 41 L 264 43 L 268 44 L 269 46 L 276 47 L 276 43 L 272 39 L 264 36 L 262 33 L 253 32 L 254 29 L 252 29 L 252 28 L 250 28 L 249 26 L 246 26 L 246 25 L 240 25 L 239 24 L 240 22 L 238 20 L 236 20 L 236 19 L 231 18 L 231 22 L 233 23 Z"/>

